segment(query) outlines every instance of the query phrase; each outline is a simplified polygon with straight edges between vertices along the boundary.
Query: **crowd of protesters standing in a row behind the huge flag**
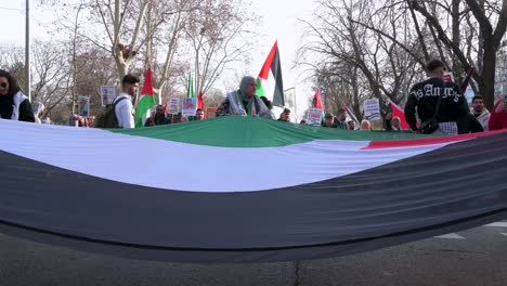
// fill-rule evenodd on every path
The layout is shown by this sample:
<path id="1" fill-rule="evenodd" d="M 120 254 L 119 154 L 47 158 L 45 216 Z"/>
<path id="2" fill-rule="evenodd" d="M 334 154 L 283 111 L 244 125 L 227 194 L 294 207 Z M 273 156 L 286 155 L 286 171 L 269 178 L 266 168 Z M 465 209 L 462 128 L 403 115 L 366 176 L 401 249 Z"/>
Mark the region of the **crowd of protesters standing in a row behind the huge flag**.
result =
<path id="1" fill-rule="evenodd" d="M 460 134 L 481 132 L 507 128 L 507 95 L 497 101 L 492 112 L 484 106 L 484 99 L 476 95 L 472 99 L 472 107 L 469 108 L 465 96 L 454 82 L 444 81 L 446 68 L 442 61 L 432 60 L 426 65 L 428 78 L 414 84 L 410 91 L 405 105 L 405 119 L 408 129 L 401 127 L 401 118 L 388 113 L 384 118 L 382 130 L 394 132 L 421 132 L 420 126 L 430 126 L 435 121 L 432 133 Z M 140 79 L 133 75 L 127 75 L 121 80 L 121 92 L 115 98 L 114 112 L 119 128 L 134 128 L 133 96 L 138 93 Z M 242 78 L 239 89 L 229 92 L 217 108 L 216 116 L 257 116 L 266 119 L 290 122 L 290 109 L 284 108 L 276 119 L 273 114 L 273 105 L 264 96 L 256 95 L 256 79 L 250 76 Z M 28 98 L 23 94 L 17 80 L 8 72 L 0 69 L 0 116 L 3 119 L 41 122 L 40 115 L 44 106 L 40 103 L 30 104 Z M 417 120 L 417 117 L 419 120 Z M 69 126 L 93 127 L 94 116 L 79 116 L 73 114 L 68 120 Z M 164 105 L 156 105 L 146 119 L 144 126 L 170 125 L 191 120 L 205 119 L 205 113 L 198 108 L 195 116 L 186 118 L 181 115 L 166 115 Z M 301 125 L 307 120 L 301 120 Z M 359 127 L 356 126 L 359 125 Z M 419 126 L 420 125 L 420 126 Z M 368 118 L 361 122 L 347 119 L 346 109 L 338 109 L 336 116 L 327 113 L 321 123 L 325 128 L 343 130 L 372 130 Z"/>

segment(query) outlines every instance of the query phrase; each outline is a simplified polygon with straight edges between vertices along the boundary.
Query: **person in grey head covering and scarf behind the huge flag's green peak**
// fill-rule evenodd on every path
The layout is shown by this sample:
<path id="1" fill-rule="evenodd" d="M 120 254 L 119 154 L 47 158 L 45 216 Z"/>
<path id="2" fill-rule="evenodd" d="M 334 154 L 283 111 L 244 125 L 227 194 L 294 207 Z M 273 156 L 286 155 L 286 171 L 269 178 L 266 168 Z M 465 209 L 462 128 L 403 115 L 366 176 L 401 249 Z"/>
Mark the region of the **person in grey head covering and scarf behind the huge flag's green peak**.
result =
<path id="1" fill-rule="evenodd" d="M 217 116 L 240 115 L 274 119 L 264 102 L 256 96 L 256 89 L 257 83 L 253 77 L 243 77 L 239 89 L 227 93 L 225 100 L 217 108 Z"/>

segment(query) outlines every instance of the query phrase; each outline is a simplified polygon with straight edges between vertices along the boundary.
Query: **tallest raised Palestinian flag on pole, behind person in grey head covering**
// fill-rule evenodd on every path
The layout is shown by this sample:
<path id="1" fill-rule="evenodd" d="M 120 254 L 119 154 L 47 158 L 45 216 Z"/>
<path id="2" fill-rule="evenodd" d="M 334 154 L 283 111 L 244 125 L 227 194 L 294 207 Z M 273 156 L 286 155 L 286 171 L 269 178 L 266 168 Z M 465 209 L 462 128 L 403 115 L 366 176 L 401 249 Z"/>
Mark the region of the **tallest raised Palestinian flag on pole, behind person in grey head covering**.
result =
<path id="1" fill-rule="evenodd" d="M 271 73 L 270 73 L 271 70 Z M 271 75 L 271 77 L 270 77 Z M 273 91 L 273 104 L 276 106 L 284 106 L 284 82 L 282 80 L 282 65 L 280 64 L 278 42 L 275 41 L 273 48 L 265 58 L 264 65 L 257 77 L 257 90 L 258 96 L 265 96 L 264 86 L 270 79 L 273 78 L 274 91 Z"/>

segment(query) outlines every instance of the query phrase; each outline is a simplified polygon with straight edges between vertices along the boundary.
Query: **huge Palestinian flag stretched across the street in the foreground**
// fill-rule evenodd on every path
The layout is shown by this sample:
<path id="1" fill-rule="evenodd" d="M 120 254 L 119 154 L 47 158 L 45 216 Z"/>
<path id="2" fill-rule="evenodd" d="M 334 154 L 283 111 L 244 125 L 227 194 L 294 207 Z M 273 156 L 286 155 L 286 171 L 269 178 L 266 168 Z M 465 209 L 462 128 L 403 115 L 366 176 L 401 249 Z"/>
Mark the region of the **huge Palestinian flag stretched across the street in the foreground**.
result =
<path id="1" fill-rule="evenodd" d="M 141 259 L 354 253 L 507 218 L 507 132 L 0 120 L 0 232 Z M 150 156 L 145 150 L 148 148 Z"/>

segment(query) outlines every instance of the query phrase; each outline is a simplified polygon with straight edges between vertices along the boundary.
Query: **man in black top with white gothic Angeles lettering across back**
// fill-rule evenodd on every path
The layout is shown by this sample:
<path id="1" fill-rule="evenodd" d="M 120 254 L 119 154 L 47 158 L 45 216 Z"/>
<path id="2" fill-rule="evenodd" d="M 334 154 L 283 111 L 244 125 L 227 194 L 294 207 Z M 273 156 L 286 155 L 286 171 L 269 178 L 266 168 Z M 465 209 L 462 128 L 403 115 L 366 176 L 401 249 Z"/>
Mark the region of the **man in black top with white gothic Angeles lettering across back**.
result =
<path id="1" fill-rule="evenodd" d="M 425 122 L 433 117 L 440 99 L 439 113 L 435 115 L 439 129 L 434 132 L 458 133 L 456 121 L 469 113 L 468 104 L 456 83 L 443 80 L 444 72 L 445 65 L 442 61 L 431 60 L 426 65 L 429 79 L 412 87 L 405 104 L 405 119 L 413 131 L 417 131 L 416 108 L 421 122 Z"/>

